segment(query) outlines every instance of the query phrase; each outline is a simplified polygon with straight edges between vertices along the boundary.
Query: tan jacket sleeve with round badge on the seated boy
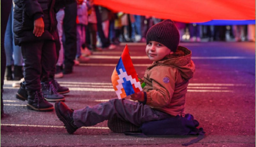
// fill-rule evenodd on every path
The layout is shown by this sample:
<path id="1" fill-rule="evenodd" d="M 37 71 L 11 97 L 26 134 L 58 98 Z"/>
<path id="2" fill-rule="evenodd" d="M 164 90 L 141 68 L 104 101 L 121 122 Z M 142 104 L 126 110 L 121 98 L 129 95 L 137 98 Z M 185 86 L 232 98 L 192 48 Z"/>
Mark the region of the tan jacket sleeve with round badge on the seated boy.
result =
<path id="1" fill-rule="evenodd" d="M 175 88 L 174 68 L 156 68 L 149 76 L 152 80 L 153 90 L 146 91 L 146 104 L 152 107 L 164 107 L 171 102 Z"/>

